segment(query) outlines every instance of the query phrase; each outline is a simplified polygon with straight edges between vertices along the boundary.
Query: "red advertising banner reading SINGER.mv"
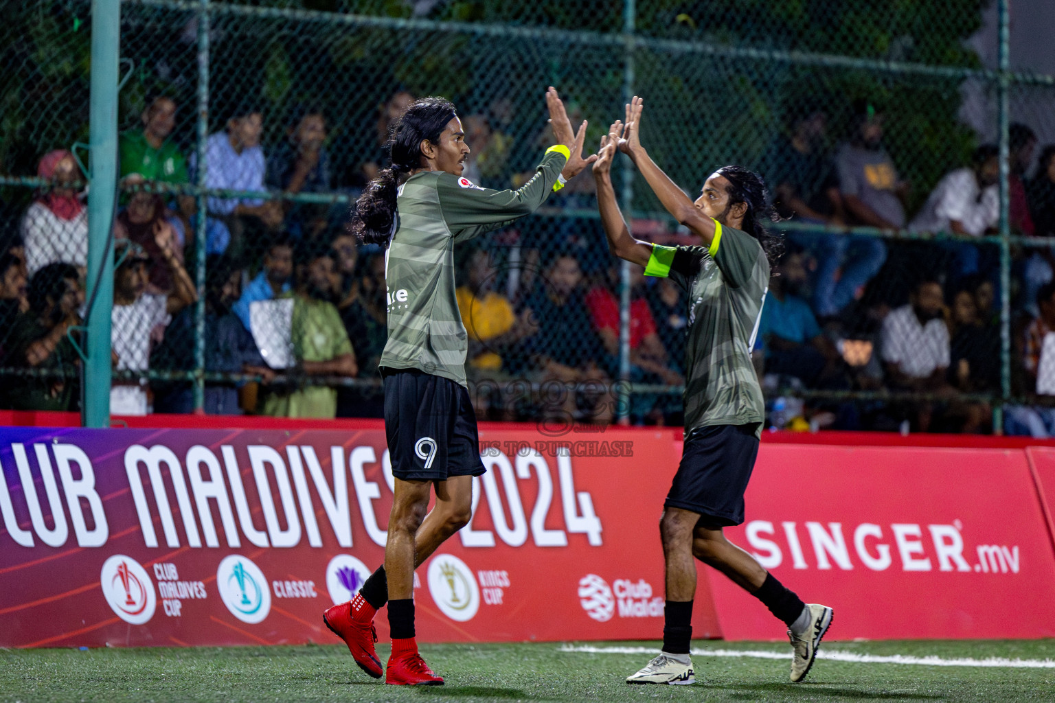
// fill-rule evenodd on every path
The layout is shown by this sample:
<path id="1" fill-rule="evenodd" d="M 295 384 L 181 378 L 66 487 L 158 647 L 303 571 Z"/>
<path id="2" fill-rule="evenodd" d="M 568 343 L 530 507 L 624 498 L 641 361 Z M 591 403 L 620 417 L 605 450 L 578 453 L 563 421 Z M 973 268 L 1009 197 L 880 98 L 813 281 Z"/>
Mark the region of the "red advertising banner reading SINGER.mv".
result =
<path id="1" fill-rule="evenodd" d="M 1055 553 L 1021 450 L 763 443 L 731 540 L 806 602 L 831 639 L 1055 636 Z M 712 572 L 723 636 L 782 624 Z"/>

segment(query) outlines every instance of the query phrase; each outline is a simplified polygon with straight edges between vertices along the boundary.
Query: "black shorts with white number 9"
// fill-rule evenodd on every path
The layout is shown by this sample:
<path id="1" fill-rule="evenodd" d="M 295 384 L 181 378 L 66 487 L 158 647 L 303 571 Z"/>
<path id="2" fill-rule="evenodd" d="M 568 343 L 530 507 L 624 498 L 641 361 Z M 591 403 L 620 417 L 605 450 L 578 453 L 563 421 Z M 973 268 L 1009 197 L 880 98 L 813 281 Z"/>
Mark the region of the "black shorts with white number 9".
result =
<path id="1" fill-rule="evenodd" d="M 381 374 L 394 476 L 445 481 L 484 472 L 476 413 L 464 386 L 417 369 L 382 368 Z"/>

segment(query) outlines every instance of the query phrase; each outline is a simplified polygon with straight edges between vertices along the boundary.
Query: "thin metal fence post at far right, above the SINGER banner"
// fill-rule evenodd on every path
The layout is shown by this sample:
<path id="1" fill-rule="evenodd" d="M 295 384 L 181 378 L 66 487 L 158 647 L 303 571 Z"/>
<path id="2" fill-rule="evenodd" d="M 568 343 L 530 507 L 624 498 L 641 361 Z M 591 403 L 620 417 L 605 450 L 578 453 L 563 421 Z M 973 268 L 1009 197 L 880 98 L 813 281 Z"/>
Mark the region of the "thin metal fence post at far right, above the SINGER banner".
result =
<path id="1" fill-rule="evenodd" d="M 1010 47 L 1011 13 L 1009 0 L 998 0 L 999 23 L 999 77 L 997 83 L 997 111 L 1000 149 L 1000 395 L 1001 403 L 993 411 L 993 432 L 1003 431 L 1003 405 L 1011 397 L 1011 164 L 1009 143 L 1010 120 Z"/>

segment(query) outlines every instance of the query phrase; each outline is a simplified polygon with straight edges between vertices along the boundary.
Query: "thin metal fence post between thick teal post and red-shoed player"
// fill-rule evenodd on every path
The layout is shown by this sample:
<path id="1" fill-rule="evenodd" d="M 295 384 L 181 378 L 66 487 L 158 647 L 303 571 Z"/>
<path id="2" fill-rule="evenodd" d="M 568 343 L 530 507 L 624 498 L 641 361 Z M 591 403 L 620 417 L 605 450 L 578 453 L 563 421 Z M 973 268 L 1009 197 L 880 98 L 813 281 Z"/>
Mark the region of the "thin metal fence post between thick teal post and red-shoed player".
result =
<path id="1" fill-rule="evenodd" d="M 197 11 L 197 169 L 194 178 L 199 189 L 206 187 L 206 143 L 209 139 L 209 0 L 198 0 Z M 208 217 L 206 207 L 208 201 L 205 193 L 199 191 L 195 198 L 197 213 L 194 234 L 197 246 L 194 248 L 194 286 L 197 288 L 198 300 L 194 306 L 194 412 L 205 410 L 205 260 L 208 245 Z"/>

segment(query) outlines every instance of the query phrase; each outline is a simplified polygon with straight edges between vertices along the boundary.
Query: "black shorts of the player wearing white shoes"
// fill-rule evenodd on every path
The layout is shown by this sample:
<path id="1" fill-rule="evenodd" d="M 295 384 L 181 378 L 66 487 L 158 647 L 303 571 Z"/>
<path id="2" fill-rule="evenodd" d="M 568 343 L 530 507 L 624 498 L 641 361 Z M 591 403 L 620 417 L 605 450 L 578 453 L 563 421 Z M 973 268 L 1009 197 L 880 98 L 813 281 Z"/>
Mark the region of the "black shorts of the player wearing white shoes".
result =
<path id="1" fill-rule="evenodd" d="M 744 491 L 759 455 L 759 425 L 714 425 L 694 430 L 664 506 L 697 512 L 708 527 L 744 522 Z"/>

